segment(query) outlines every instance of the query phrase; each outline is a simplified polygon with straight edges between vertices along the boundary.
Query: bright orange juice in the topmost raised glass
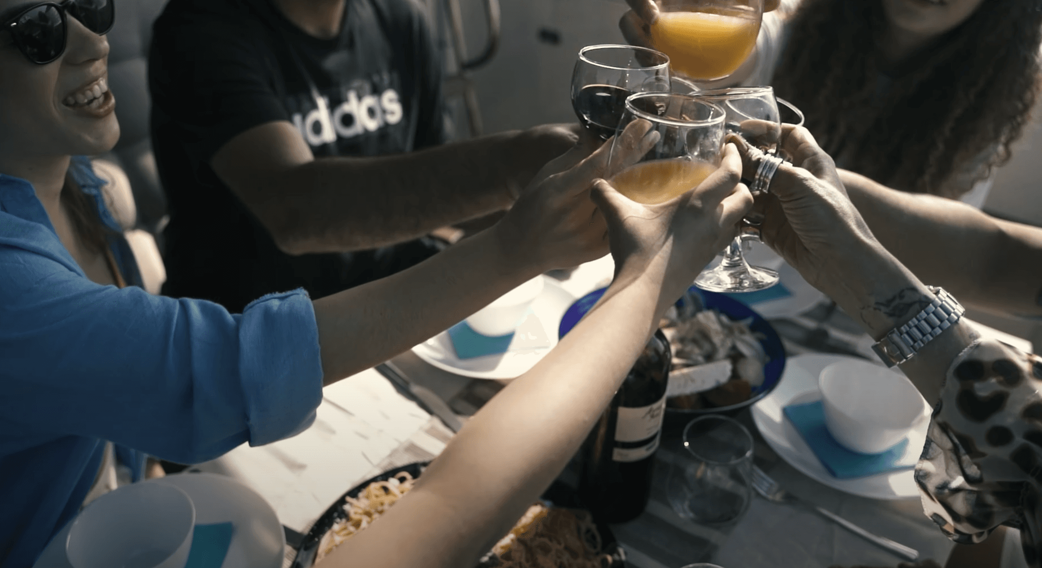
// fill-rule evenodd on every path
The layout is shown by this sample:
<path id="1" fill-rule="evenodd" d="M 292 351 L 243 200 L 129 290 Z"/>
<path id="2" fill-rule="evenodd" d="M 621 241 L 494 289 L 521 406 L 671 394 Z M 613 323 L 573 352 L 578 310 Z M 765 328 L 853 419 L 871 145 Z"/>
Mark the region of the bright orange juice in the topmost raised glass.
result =
<path id="1" fill-rule="evenodd" d="M 651 44 L 669 55 L 670 67 L 692 79 L 719 79 L 735 72 L 756 45 L 760 20 L 664 11 L 651 26 Z"/>

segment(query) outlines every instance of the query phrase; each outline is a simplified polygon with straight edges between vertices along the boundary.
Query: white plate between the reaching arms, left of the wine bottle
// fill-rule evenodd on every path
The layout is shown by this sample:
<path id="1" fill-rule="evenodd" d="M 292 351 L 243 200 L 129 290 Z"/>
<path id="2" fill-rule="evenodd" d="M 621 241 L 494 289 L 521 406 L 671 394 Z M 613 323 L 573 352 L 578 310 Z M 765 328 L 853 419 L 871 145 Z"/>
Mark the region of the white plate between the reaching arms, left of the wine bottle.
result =
<path id="1" fill-rule="evenodd" d="M 546 348 L 515 353 L 507 351 L 499 355 L 487 355 L 473 359 L 460 359 L 447 332 L 442 332 L 427 341 L 413 347 L 420 359 L 449 372 L 475 379 L 516 379 L 536 366 L 547 353 L 557 344 L 557 326 L 565 311 L 577 299 L 566 291 L 551 278 L 546 279 L 543 293 L 531 303 L 531 316 L 538 319 L 546 332 L 549 344 Z"/>

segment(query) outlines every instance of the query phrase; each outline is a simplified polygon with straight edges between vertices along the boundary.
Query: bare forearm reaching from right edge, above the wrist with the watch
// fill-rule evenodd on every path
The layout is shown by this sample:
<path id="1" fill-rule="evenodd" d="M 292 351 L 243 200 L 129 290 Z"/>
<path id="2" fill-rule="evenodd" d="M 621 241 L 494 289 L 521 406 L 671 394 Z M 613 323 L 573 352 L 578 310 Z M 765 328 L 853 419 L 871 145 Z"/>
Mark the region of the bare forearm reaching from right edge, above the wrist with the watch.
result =
<path id="1" fill-rule="evenodd" d="M 924 282 L 976 307 L 1042 315 L 1042 229 L 851 172 L 840 178 L 879 242 Z"/>

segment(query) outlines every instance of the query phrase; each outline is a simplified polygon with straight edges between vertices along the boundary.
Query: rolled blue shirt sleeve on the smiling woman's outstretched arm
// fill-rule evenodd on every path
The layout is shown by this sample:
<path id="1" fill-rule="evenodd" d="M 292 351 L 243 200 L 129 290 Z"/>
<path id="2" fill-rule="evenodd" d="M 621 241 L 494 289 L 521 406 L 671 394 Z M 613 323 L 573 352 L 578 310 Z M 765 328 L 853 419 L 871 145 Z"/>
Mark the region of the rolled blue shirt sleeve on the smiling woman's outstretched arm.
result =
<path id="1" fill-rule="evenodd" d="M 43 228 L 41 228 L 43 229 Z M 322 399 L 306 292 L 243 314 L 102 286 L 0 239 L 0 424 L 26 443 L 94 436 L 198 463 L 307 428 Z"/>

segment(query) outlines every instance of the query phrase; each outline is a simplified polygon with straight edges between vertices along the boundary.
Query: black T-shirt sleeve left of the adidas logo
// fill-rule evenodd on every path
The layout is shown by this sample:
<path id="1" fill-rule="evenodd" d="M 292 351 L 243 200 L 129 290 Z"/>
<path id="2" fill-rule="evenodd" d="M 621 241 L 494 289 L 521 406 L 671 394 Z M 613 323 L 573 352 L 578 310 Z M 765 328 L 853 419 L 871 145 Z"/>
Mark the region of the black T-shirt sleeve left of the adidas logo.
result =
<path id="1" fill-rule="evenodd" d="M 179 131 L 195 163 L 208 163 L 237 134 L 290 117 L 273 86 L 273 55 L 258 40 L 252 15 L 200 5 L 172 2 L 156 21 L 149 88 L 154 115 Z"/>

